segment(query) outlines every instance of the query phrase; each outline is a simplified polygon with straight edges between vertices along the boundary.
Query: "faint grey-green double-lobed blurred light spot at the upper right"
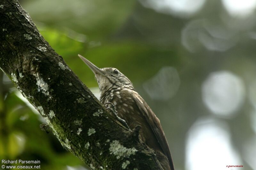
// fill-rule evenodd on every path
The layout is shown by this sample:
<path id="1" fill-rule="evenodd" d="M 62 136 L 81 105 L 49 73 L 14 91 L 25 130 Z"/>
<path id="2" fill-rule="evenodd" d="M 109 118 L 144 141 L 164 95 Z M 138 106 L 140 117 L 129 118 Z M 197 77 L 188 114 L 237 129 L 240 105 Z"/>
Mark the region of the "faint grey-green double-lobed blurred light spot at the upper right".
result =
<path id="1" fill-rule="evenodd" d="M 202 47 L 211 51 L 226 51 L 237 43 L 236 32 L 204 19 L 190 21 L 181 32 L 181 43 L 190 52 Z"/>

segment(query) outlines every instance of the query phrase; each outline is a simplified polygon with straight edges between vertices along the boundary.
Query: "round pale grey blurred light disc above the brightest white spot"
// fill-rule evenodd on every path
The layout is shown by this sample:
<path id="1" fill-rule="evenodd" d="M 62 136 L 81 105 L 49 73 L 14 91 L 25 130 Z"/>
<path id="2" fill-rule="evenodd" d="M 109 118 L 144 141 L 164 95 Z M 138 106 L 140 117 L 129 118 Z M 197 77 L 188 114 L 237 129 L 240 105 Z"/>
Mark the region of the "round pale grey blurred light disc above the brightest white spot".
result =
<path id="1" fill-rule="evenodd" d="M 212 72 L 202 86 L 204 104 L 216 115 L 234 114 L 244 96 L 243 80 L 229 71 Z"/>

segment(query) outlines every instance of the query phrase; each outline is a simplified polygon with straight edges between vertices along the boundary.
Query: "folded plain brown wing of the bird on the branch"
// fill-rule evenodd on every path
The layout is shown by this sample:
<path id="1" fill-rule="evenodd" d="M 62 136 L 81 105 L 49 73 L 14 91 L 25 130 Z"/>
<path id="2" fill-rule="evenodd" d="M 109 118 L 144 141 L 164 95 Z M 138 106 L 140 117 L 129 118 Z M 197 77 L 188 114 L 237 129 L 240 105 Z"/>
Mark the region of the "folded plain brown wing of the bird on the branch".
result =
<path id="1" fill-rule="evenodd" d="M 133 99 L 136 101 L 137 106 L 139 107 L 141 113 L 147 120 L 149 126 L 153 130 L 156 139 L 158 140 L 158 143 L 160 144 L 161 148 L 164 151 L 164 154 L 169 160 L 169 164 L 172 170 L 174 170 L 174 165 L 172 162 L 172 156 L 169 149 L 169 145 L 167 143 L 166 137 L 164 135 L 164 131 L 161 127 L 159 119 L 156 117 L 154 112 L 151 110 L 151 108 L 148 106 L 148 104 L 143 100 L 140 95 L 133 95 Z"/>

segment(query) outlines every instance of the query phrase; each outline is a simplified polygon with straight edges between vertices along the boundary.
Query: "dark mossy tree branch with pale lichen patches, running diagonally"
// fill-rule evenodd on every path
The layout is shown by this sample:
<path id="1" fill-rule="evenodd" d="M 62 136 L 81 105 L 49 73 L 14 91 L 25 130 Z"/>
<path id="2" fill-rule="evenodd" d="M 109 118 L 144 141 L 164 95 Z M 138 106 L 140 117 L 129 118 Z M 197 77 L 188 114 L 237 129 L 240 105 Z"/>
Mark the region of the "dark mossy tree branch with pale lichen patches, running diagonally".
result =
<path id="1" fill-rule="evenodd" d="M 0 68 L 64 148 L 92 169 L 161 169 L 140 128 L 127 130 L 106 111 L 17 0 L 0 2 L 0 23 Z"/>

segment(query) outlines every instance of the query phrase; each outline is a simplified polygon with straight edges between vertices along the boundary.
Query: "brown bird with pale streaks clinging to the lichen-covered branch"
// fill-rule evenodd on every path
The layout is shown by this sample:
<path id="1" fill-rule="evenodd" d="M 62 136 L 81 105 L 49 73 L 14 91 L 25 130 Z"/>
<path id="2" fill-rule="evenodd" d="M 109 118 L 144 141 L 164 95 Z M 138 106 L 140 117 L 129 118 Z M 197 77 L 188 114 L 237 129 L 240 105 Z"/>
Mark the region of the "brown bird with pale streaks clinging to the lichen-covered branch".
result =
<path id="1" fill-rule="evenodd" d="M 100 88 L 100 102 L 112 104 L 118 118 L 130 129 L 140 126 L 140 139 L 156 153 L 164 170 L 174 170 L 171 152 L 163 128 L 154 112 L 135 91 L 132 82 L 113 67 L 98 68 L 82 55 L 78 55 L 92 70 Z"/>

